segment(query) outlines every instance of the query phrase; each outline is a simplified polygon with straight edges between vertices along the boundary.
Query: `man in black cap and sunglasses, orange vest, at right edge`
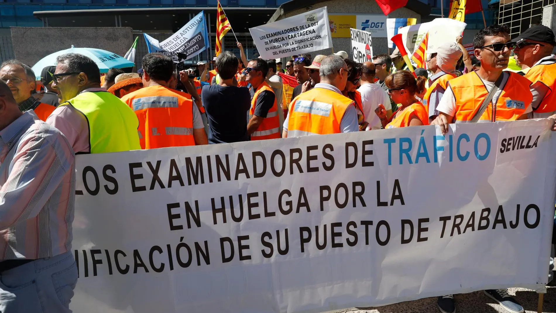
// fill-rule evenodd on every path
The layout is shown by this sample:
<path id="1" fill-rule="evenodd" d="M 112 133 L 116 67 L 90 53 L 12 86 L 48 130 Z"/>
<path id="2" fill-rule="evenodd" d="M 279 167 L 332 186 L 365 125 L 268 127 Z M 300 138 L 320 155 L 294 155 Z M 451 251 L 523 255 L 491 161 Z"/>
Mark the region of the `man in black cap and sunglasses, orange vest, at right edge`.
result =
<path id="1" fill-rule="evenodd" d="M 533 84 L 533 118 L 556 113 L 556 56 L 554 32 L 543 25 L 533 26 L 515 38 L 517 61 L 530 67 L 525 78 Z"/>

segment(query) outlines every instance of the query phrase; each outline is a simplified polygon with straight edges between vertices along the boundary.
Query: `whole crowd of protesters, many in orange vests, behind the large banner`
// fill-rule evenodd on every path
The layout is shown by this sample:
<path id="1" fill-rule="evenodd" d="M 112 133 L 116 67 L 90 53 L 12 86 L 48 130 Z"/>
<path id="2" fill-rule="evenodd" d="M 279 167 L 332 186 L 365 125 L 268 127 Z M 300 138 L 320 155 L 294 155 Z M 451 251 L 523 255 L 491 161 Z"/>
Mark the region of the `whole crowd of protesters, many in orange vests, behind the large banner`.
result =
<path id="1" fill-rule="evenodd" d="M 70 252 L 77 153 L 429 124 L 446 133 L 450 123 L 556 117 L 552 29 L 533 26 L 510 39 L 507 27 L 493 25 L 481 29 L 473 45 L 471 58 L 461 37 L 440 44 L 426 52 L 428 70 L 414 73 L 399 52 L 364 63 L 344 51 L 305 54 L 282 66 L 274 59 L 248 60 L 241 43 L 239 57 L 225 51 L 212 60 L 213 69 L 198 62 L 197 71 L 176 72 L 170 57 L 149 53 L 137 73 L 110 69 L 101 77 L 90 58 L 69 53 L 36 81 L 27 64 L 2 63 L 0 232 L 6 240 L 0 241 L 0 273 L 11 271 L 16 285 L 29 277 L 36 284 L 4 297 L 3 307 L 36 311 L 32 294 L 38 292 L 41 311 L 68 311 L 77 280 Z M 508 71 L 512 58 L 518 69 Z M 298 84 L 289 101 L 286 78 Z M 69 288 L 65 293 L 51 286 L 51 276 L 61 271 L 56 284 Z M 506 290 L 485 293 L 508 311 L 523 312 Z M 453 295 L 439 297 L 438 306 L 455 312 Z"/>

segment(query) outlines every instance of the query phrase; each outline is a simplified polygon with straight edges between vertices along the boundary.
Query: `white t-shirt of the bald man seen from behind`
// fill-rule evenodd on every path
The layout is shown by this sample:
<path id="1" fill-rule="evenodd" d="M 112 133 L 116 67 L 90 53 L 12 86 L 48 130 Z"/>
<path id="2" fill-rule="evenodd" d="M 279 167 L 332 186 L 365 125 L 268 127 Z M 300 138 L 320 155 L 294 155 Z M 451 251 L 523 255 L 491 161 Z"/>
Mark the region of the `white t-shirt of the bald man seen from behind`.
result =
<path id="1" fill-rule="evenodd" d="M 361 102 L 363 102 L 363 113 L 365 114 L 366 122 L 369 123 L 371 129 L 380 130 L 382 124 L 380 123 L 380 118 L 375 113 L 375 109 L 381 104 L 384 105 L 386 111 L 392 110 L 388 93 L 380 85 L 371 83 L 361 85 L 358 91 L 361 93 Z"/>

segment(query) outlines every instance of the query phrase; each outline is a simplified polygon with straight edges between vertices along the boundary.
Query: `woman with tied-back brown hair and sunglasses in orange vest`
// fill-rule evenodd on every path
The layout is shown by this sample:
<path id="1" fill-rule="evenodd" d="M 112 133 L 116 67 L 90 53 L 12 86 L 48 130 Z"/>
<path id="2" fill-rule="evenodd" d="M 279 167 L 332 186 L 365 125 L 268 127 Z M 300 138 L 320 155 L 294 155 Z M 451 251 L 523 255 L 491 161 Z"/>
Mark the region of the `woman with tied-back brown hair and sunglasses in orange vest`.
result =
<path id="1" fill-rule="evenodd" d="M 398 71 L 386 77 L 384 83 L 388 87 L 388 95 L 400 106 L 390 119 L 386 118 L 383 105 L 376 108 L 375 113 L 379 116 L 383 128 L 429 125 L 426 108 L 415 98 L 415 95 L 425 89 L 425 81 L 426 78 L 423 76 L 418 76 L 415 80 L 409 71 Z"/>

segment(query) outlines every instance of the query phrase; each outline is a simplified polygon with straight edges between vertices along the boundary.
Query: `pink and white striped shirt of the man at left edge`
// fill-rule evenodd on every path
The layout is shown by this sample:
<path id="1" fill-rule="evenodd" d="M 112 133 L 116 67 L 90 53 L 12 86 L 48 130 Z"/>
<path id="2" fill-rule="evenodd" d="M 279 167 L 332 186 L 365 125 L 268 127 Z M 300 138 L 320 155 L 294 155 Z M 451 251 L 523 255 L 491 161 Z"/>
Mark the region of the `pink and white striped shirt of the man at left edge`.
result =
<path id="1" fill-rule="evenodd" d="M 0 261 L 71 250 L 75 154 L 32 110 L 0 131 Z"/>

